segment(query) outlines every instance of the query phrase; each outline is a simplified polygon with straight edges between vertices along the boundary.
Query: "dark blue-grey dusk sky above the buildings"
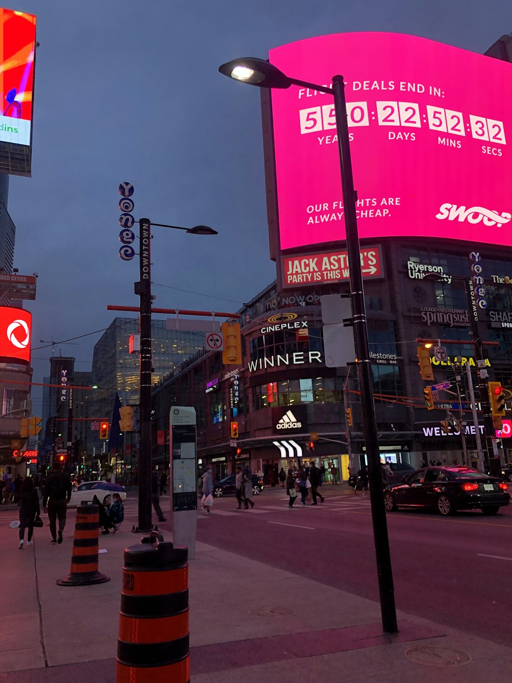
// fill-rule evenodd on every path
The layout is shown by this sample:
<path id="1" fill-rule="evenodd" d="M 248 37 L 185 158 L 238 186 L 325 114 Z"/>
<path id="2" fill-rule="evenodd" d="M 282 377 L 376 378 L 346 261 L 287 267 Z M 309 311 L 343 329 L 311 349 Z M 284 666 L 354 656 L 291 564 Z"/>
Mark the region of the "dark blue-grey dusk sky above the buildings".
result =
<path id="1" fill-rule="evenodd" d="M 240 56 L 347 31 L 412 33 L 482 53 L 512 31 L 510 0 L 23 0 L 38 17 L 32 178 L 11 177 L 14 265 L 38 273 L 35 382 L 51 347 L 109 325 L 107 304 L 139 305 L 137 257 L 117 255 L 119 182 L 154 228 L 157 307 L 236 311 L 275 277 L 268 257 L 259 92 L 218 74 Z M 300 78 L 300 74 L 290 74 Z M 346 74 L 345 74 L 346 75 Z M 166 285 L 166 286 L 160 286 Z M 184 292 L 180 290 L 189 290 Z M 193 292 L 193 293 L 190 293 Z M 217 297 L 217 298 L 212 298 Z M 101 333 L 56 346 L 90 370 Z M 33 391 L 40 415 L 41 391 Z"/>

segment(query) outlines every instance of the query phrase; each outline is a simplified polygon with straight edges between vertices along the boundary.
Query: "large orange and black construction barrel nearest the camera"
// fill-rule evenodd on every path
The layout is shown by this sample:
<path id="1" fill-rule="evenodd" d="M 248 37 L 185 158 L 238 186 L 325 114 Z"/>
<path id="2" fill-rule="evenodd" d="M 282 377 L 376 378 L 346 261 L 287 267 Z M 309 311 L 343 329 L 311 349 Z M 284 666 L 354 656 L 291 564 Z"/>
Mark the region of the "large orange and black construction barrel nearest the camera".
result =
<path id="1" fill-rule="evenodd" d="M 115 683 L 190 681 L 188 550 L 156 538 L 124 551 Z"/>

